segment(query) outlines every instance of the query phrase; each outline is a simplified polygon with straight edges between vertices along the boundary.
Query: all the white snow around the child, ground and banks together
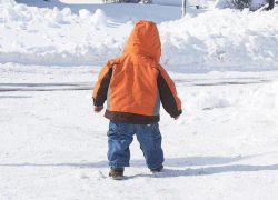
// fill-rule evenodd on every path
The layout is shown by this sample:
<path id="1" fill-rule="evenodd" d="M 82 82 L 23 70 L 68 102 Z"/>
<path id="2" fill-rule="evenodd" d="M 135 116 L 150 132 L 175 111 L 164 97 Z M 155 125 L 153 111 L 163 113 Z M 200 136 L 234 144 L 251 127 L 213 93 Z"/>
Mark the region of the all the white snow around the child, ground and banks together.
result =
<path id="1" fill-rule="evenodd" d="M 179 19 L 176 0 L 0 3 L 1 200 L 276 199 L 277 7 L 187 8 Z M 108 120 L 93 113 L 91 92 L 139 19 L 158 24 L 183 113 L 175 121 L 161 109 L 161 173 L 135 140 L 125 180 L 113 181 Z"/>

